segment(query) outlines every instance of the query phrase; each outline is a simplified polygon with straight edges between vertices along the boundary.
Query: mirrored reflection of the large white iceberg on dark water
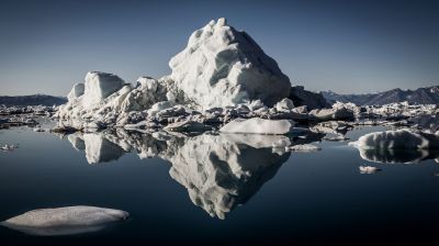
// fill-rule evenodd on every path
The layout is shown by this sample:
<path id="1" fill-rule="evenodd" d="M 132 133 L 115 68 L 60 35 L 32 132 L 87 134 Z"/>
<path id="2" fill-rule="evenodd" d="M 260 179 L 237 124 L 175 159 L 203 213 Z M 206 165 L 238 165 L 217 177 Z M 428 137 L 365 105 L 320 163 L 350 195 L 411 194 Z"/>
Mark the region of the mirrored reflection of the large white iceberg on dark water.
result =
<path id="1" fill-rule="evenodd" d="M 183 135 L 167 132 L 133 134 L 75 133 L 71 145 L 86 152 L 89 164 L 105 163 L 135 152 L 139 158 L 160 157 L 171 164 L 169 174 L 188 189 L 192 202 L 211 216 L 224 219 L 236 205 L 248 201 L 270 180 L 290 153 L 273 149 L 272 143 L 306 144 L 320 135 L 214 134 Z"/>

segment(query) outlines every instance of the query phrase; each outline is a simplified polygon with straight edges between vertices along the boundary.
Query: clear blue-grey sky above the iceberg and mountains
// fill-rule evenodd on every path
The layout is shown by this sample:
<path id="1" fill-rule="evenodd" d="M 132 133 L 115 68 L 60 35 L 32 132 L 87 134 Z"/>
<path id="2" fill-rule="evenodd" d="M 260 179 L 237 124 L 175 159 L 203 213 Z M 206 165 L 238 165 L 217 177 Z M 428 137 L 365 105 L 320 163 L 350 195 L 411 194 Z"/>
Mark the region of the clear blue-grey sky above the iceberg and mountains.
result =
<path id="1" fill-rule="evenodd" d="M 439 85 L 439 0 L 1 0 L 0 94 L 65 96 L 89 70 L 161 77 L 221 16 L 309 90 Z"/>

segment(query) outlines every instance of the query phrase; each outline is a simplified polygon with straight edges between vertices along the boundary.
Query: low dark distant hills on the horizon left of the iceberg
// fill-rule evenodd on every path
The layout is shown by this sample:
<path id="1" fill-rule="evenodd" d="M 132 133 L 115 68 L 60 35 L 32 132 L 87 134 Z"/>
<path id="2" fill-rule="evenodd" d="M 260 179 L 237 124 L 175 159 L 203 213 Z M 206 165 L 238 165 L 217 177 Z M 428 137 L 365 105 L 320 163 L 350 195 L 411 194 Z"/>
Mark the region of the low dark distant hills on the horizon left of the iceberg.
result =
<path id="1" fill-rule="evenodd" d="M 60 105 L 66 102 L 67 98 L 48 94 L 0 96 L 0 104 L 4 105 Z"/>

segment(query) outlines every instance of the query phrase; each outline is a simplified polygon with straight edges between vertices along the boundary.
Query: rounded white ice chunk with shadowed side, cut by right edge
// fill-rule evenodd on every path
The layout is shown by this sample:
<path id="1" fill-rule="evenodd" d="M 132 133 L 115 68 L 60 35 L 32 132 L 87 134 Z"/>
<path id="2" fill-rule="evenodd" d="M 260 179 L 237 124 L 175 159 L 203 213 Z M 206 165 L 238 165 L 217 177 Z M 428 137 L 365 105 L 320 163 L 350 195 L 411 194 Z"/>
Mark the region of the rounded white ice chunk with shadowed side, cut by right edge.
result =
<path id="1" fill-rule="evenodd" d="M 439 136 L 420 131 L 385 131 L 365 134 L 349 145 L 365 149 L 439 149 Z"/>

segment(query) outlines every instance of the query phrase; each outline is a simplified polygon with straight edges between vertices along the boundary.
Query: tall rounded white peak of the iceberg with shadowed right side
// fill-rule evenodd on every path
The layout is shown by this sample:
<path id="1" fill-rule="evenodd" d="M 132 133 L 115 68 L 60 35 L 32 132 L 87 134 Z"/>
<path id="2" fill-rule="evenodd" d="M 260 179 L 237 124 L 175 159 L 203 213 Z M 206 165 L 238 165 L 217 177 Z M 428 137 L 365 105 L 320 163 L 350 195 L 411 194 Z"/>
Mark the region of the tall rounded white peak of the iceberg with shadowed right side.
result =
<path id="1" fill-rule="evenodd" d="M 224 18 L 193 32 L 169 66 L 176 86 L 203 108 L 257 99 L 273 105 L 288 98 L 291 87 L 275 60 Z"/>

